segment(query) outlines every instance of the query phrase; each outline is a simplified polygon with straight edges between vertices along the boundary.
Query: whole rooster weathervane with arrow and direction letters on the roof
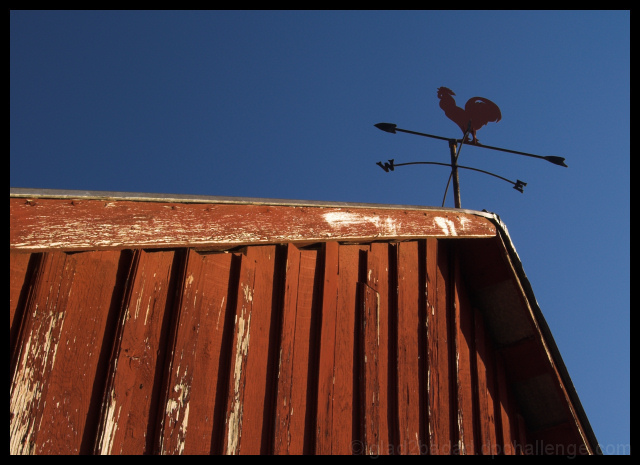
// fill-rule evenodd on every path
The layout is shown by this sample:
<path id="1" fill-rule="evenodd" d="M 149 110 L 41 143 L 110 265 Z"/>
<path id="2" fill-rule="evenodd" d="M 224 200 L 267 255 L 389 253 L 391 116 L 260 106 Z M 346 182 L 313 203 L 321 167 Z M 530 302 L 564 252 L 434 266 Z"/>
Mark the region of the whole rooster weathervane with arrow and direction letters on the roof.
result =
<path id="1" fill-rule="evenodd" d="M 553 163 L 554 165 L 564 166 L 567 165 L 564 163 L 564 158 L 555 157 L 555 156 L 546 156 L 543 157 L 541 155 L 534 155 L 532 153 L 526 152 L 518 152 L 516 150 L 503 149 L 500 147 L 492 147 L 490 145 L 481 144 L 478 140 L 476 132 L 485 126 L 487 123 L 495 122 L 497 123 L 502 118 L 502 114 L 500 113 L 500 108 L 493 103 L 491 100 L 483 98 L 483 97 L 472 97 L 467 100 L 467 103 L 464 106 L 464 109 L 458 107 L 456 105 L 455 100 L 453 99 L 453 95 L 455 93 L 448 89 L 447 87 L 439 87 L 438 88 L 438 98 L 440 99 L 440 108 L 444 111 L 444 114 L 452 120 L 454 123 L 458 125 L 460 130 L 463 133 L 462 139 L 451 139 L 448 137 L 442 136 L 434 136 L 432 134 L 425 134 L 422 132 L 409 131 L 406 129 L 400 129 L 395 124 L 392 123 L 378 123 L 375 125 L 378 129 L 390 132 L 395 134 L 397 131 L 406 132 L 407 134 L 415 134 L 423 137 L 431 137 L 433 139 L 446 140 L 449 142 L 449 151 L 451 154 L 451 163 L 437 163 L 432 161 L 416 161 L 410 163 L 395 163 L 394 159 L 390 159 L 388 163 L 377 162 L 376 164 L 380 166 L 386 173 L 389 171 L 393 171 L 397 166 L 406 166 L 406 165 L 441 165 L 441 166 L 449 166 L 451 167 L 451 174 L 449 175 L 449 181 L 447 181 L 447 187 L 444 192 L 444 198 L 442 199 L 442 206 L 444 207 L 445 200 L 447 199 L 447 191 L 449 190 L 449 183 L 451 179 L 453 179 L 453 193 L 454 193 L 454 203 L 455 208 L 461 208 L 460 206 L 460 183 L 458 179 L 458 168 L 478 171 L 480 173 L 488 174 L 490 176 L 502 179 L 508 183 L 513 184 L 513 188 L 520 193 L 524 193 L 524 186 L 527 185 L 526 182 L 520 181 L 519 179 L 511 181 L 507 178 L 503 178 L 502 176 L 498 176 L 495 173 L 490 173 L 489 171 L 484 171 L 477 168 L 472 168 L 469 166 L 461 166 L 458 165 L 458 157 L 460 156 L 460 151 L 462 150 L 462 144 L 467 145 L 475 145 L 476 147 L 482 147 L 485 149 L 491 150 L 499 150 L 501 152 L 514 153 L 516 155 L 524 155 L 526 157 L 533 158 L 541 158 L 543 160 L 547 160 L 548 162 Z M 460 146 L 458 147 L 458 143 Z"/>

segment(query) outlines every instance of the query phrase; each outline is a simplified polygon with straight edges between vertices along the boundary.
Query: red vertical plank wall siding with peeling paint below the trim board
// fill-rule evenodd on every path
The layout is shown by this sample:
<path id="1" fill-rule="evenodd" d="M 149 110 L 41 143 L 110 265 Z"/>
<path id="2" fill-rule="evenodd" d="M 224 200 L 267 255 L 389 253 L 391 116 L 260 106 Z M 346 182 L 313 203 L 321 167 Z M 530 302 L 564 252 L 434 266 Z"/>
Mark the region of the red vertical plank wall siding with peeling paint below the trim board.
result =
<path id="1" fill-rule="evenodd" d="M 526 438 L 455 257 L 46 252 L 11 322 L 11 452 L 511 453 Z"/>

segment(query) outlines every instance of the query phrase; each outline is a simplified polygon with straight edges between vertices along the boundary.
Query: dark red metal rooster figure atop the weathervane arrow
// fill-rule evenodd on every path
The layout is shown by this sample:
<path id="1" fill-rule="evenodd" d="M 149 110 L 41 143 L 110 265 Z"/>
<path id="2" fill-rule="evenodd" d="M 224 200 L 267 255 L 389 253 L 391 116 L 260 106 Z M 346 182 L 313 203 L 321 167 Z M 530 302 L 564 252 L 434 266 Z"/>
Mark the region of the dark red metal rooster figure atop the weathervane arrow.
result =
<path id="1" fill-rule="evenodd" d="M 440 99 L 440 108 L 444 110 L 451 121 L 456 123 L 462 130 L 462 134 L 467 134 L 467 129 L 473 140 L 467 136 L 465 144 L 482 145 L 476 137 L 476 131 L 487 123 L 498 122 L 502 118 L 500 108 L 491 100 L 483 97 L 472 97 L 467 100 L 464 110 L 456 105 L 453 99 L 456 95 L 447 87 L 438 87 L 438 98 Z"/>

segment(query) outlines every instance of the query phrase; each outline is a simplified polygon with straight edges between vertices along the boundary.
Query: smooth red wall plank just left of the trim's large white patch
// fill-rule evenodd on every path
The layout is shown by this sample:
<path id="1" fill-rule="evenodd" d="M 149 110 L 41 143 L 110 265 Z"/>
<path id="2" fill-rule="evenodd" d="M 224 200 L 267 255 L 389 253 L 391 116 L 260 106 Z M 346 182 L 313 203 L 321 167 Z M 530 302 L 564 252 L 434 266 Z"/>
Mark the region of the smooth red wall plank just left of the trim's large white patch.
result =
<path id="1" fill-rule="evenodd" d="M 309 343 L 317 251 L 287 247 L 274 453 L 305 452 L 309 398 Z"/>

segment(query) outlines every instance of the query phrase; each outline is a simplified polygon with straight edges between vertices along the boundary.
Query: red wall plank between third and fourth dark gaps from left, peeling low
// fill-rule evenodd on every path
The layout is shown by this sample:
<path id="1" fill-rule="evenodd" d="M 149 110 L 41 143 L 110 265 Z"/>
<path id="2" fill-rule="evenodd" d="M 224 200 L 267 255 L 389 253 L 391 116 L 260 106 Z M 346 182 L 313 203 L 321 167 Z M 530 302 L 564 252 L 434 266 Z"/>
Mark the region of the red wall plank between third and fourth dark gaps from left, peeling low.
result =
<path id="1" fill-rule="evenodd" d="M 218 378 L 226 355 L 222 353 L 228 307 L 232 254 L 200 255 L 189 251 L 179 320 L 172 347 L 167 396 L 163 405 L 160 452 L 209 454 L 216 417 Z M 233 289 L 233 292 L 237 292 Z"/>

